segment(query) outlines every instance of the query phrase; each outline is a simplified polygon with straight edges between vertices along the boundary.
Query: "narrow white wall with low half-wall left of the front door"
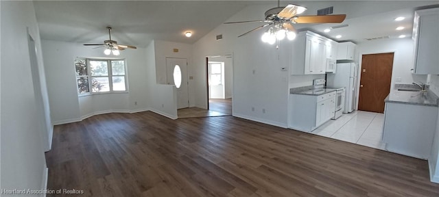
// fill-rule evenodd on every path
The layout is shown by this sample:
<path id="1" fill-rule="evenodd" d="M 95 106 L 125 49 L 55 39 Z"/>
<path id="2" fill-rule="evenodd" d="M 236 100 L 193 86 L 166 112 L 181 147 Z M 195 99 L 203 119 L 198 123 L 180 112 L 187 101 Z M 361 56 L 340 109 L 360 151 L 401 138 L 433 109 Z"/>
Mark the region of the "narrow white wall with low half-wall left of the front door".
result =
<path id="1" fill-rule="evenodd" d="M 156 50 L 155 42 L 152 41 L 146 48 L 146 79 L 150 110 L 171 119 L 177 118 L 177 88 L 174 85 L 156 83 Z"/>

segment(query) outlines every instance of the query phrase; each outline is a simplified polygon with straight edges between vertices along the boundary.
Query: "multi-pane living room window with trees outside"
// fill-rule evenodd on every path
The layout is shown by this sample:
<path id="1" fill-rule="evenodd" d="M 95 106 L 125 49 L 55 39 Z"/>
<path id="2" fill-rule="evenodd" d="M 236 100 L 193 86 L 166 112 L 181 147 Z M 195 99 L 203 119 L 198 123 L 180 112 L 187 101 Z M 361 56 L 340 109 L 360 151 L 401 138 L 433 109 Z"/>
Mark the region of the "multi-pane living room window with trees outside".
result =
<path id="1" fill-rule="evenodd" d="M 102 92 L 125 92 L 126 68 L 124 60 L 75 60 L 76 81 L 80 95 Z"/>

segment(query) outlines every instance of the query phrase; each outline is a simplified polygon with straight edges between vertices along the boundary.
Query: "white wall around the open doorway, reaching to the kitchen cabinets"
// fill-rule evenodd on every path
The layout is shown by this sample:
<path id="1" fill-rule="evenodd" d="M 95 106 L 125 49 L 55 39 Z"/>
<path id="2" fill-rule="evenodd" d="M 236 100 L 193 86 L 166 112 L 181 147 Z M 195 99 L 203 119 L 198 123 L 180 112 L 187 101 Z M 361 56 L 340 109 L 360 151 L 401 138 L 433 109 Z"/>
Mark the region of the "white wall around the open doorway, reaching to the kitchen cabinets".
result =
<path id="1" fill-rule="evenodd" d="M 261 13 L 271 7 L 252 5 L 228 21 L 261 18 Z M 233 115 L 287 127 L 288 72 L 281 71 L 281 68 L 288 66 L 287 53 L 291 49 L 288 49 L 286 40 L 281 42 L 281 49 L 278 50 L 273 45 L 261 42 L 261 32 L 237 38 L 253 28 L 254 24 L 248 23 L 219 25 L 193 44 L 196 105 L 207 106 L 205 57 L 233 53 Z M 215 40 L 218 34 L 223 35 L 222 40 Z"/>

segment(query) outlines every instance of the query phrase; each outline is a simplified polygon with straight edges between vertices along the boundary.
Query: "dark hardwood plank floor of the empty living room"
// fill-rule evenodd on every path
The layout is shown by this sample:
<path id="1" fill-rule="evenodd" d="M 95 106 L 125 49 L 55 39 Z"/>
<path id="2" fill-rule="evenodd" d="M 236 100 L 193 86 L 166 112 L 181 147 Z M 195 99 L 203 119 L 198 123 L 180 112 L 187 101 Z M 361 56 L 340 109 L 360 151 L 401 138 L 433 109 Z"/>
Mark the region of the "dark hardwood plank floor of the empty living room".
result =
<path id="1" fill-rule="evenodd" d="M 46 157 L 76 196 L 439 196 L 427 161 L 233 116 L 93 116 Z"/>

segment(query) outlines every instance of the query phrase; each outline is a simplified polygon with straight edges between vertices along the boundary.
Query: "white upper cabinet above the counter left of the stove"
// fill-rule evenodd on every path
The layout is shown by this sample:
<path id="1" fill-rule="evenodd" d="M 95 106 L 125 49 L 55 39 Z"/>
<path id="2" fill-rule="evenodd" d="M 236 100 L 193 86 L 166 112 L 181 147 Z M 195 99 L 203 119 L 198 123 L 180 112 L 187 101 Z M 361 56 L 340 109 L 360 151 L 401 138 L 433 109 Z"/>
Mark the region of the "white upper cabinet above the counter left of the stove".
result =
<path id="1" fill-rule="evenodd" d="M 292 75 L 326 73 L 327 38 L 311 31 L 302 31 L 296 37 L 292 53 Z"/>

